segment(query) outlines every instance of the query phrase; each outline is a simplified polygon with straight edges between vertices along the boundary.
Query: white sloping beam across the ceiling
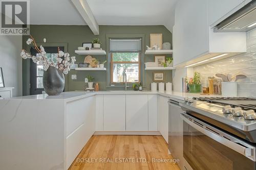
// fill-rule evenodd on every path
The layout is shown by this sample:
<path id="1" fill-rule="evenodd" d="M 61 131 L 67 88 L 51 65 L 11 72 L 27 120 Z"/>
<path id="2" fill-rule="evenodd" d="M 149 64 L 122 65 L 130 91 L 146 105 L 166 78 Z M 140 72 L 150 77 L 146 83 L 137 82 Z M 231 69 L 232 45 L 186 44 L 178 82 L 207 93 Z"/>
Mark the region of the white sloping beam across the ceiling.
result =
<path id="1" fill-rule="evenodd" d="M 94 35 L 99 35 L 99 25 L 96 21 L 93 12 L 87 3 L 87 0 L 71 0 L 75 5 L 78 12 L 81 14 L 82 18 L 86 21 L 87 25 L 90 27 Z"/>

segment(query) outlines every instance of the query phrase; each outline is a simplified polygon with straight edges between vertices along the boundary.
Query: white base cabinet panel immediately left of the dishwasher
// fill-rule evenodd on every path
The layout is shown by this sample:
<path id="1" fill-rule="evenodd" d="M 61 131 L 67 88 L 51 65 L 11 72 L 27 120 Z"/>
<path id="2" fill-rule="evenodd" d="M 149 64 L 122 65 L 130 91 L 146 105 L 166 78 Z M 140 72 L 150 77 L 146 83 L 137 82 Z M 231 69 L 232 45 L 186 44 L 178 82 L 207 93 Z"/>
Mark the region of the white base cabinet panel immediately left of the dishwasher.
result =
<path id="1" fill-rule="evenodd" d="M 168 143 L 168 98 L 158 95 L 158 130 Z"/>

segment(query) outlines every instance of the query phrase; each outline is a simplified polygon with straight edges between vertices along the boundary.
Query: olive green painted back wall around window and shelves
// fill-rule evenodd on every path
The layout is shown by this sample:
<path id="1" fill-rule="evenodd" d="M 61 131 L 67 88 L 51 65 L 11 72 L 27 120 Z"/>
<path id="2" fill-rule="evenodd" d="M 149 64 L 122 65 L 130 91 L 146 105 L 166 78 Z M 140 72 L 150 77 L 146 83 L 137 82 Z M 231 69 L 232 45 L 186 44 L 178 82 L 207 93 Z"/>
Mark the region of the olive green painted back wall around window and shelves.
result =
<path id="1" fill-rule="evenodd" d="M 57 26 L 57 25 L 31 25 L 30 34 L 35 38 L 38 43 L 45 44 L 57 44 L 57 43 L 68 43 L 68 49 L 71 56 L 76 56 L 76 63 L 83 62 L 85 56 L 77 55 L 74 53 L 78 46 L 82 45 L 82 42 L 91 42 L 93 38 L 98 37 L 102 45 L 103 50 L 106 49 L 106 34 L 144 34 L 145 45 L 150 45 L 150 34 L 151 33 L 162 33 L 163 42 L 171 42 L 172 44 L 172 33 L 170 33 L 164 26 L 99 26 L 99 35 L 94 35 L 88 26 Z M 23 36 L 23 48 L 28 49 L 26 45 L 26 40 L 28 36 Z M 47 38 L 47 43 L 43 43 L 43 38 Z M 145 48 L 145 47 L 144 47 Z M 144 52 L 143 52 L 144 53 Z M 145 62 L 154 61 L 154 55 L 142 55 L 145 57 Z M 170 55 L 171 56 L 171 55 Z M 93 56 L 99 60 L 106 60 L 106 56 Z M 166 55 L 169 57 L 169 55 Z M 23 61 L 23 85 L 24 85 L 24 95 L 28 93 L 28 77 L 29 72 L 26 70 L 29 67 L 28 61 Z M 172 82 L 172 71 L 165 72 L 165 82 Z M 71 80 L 71 75 L 77 75 L 77 80 Z M 66 77 L 66 91 L 73 90 L 83 90 L 86 87 L 84 83 L 84 78 L 87 75 L 93 76 L 95 82 L 99 82 L 100 90 L 123 90 L 124 87 L 106 87 L 106 71 L 76 71 L 71 70 Z M 144 89 L 150 90 L 150 83 L 153 81 L 153 71 L 144 71 L 143 77 L 145 82 L 143 85 Z"/>

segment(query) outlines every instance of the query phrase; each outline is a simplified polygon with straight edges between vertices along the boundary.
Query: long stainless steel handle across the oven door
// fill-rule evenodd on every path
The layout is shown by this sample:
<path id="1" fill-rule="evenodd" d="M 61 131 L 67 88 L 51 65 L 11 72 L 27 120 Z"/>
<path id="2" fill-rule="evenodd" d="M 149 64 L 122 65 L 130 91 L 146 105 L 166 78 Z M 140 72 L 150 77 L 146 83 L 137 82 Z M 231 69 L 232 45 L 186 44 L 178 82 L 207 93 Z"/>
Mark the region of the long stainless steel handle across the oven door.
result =
<path id="1" fill-rule="evenodd" d="M 191 117 L 187 115 L 186 113 L 181 113 L 181 118 L 191 127 L 195 128 L 196 130 L 200 131 L 204 135 L 214 139 L 215 141 L 218 141 L 221 144 L 224 144 L 226 147 L 232 149 L 233 151 L 236 151 L 247 158 L 255 161 L 255 148 L 254 147 L 245 147 L 241 143 L 244 143 L 243 141 L 239 139 L 235 139 L 235 141 L 229 140 L 227 137 L 223 137 L 221 131 L 217 130 L 214 127 L 211 127 L 200 120 L 195 119 L 194 117 Z M 240 144 L 238 144 L 240 143 Z"/>

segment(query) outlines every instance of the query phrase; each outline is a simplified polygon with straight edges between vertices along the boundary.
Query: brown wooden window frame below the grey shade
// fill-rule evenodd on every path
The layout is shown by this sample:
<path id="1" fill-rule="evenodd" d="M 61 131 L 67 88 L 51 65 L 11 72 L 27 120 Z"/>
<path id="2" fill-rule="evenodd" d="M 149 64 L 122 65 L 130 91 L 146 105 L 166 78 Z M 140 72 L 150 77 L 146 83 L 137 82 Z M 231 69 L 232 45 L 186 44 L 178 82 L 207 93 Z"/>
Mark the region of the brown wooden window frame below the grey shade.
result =
<path id="1" fill-rule="evenodd" d="M 119 53 L 124 53 L 124 52 L 119 52 Z M 127 53 L 127 52 L 126 52 Z M 129 52 L 131 53 L 131 52 Z M 135 53 L 135 52 L 134 52 Z M 111 77 L 111 84 L 124 84 L 125 82 L 113 82 L 113 65 L 114 64 L 138 64 L 139 66 L 139 72 L 138 72 L 138 75 L 139 75 L 139 79 L 138 79 L 138 82 L 127 82 L 127 83 L 139 83 L 141 82 L 141 53 L 140 52 L 136 52 L 138 53 L 138 61 L 113 61 L 113 53 L 110 53 L 110 77 Z"/>

